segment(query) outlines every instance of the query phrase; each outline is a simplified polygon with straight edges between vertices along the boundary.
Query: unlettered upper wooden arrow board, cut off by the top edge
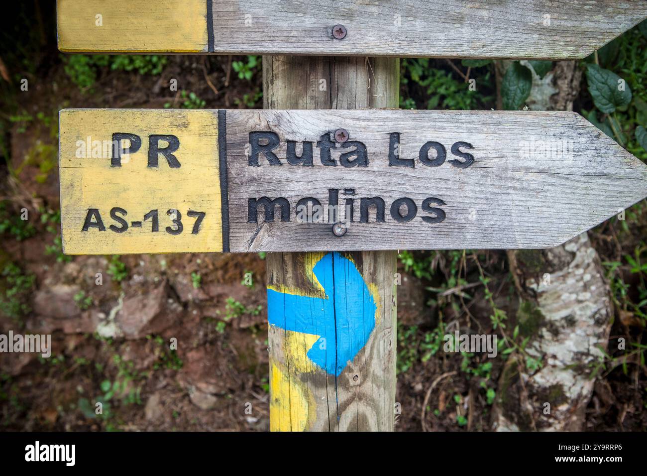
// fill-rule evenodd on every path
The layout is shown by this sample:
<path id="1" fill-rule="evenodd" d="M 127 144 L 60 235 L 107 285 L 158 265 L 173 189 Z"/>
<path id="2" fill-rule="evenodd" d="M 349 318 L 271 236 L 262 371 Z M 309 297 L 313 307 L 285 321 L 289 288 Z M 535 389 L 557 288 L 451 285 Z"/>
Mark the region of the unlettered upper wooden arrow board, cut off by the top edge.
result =
<path id="1" fill-rule="evenodd" d="M 65 52 L 584 58 L 647 0 L 58 0 Z"/>

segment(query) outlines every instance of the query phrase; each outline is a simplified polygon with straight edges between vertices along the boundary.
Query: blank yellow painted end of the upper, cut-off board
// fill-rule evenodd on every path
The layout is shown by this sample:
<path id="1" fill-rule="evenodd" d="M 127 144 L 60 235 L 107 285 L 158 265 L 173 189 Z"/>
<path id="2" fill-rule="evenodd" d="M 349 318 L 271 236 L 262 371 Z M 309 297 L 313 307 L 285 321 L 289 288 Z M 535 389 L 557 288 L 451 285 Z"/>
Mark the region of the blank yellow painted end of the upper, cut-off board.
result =
<path id="1" fill-rule="evenodd" d="M 207 51 L 205 0 L 58 0 L 56 13 L 61 51 Z"/>

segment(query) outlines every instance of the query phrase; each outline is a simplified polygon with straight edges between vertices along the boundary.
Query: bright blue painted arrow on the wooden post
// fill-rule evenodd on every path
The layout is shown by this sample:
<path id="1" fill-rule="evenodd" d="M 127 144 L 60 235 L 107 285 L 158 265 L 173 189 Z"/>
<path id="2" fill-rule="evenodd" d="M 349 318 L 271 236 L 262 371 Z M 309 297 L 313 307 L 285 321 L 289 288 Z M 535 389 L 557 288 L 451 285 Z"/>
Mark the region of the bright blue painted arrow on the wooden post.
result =
<path id="1" fill-rule="evenodd" d="M 319 335 L 307 356 L 339 376 L 366 345 L 375 328 L 377 306 L 355 264 L 339 253 L 324 255 L 313 273 L 325 297 L 267 289 L 268 321 L 281 329 Z"/>

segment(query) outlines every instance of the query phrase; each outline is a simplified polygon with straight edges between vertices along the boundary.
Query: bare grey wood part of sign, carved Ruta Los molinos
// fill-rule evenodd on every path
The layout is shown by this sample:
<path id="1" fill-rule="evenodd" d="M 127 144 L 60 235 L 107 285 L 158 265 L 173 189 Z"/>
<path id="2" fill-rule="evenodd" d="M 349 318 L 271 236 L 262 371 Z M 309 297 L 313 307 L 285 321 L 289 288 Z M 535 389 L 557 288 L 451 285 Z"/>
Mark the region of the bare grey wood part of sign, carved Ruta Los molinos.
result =
<path id="1" fill-rule="evenodd" d="M 366 144 L 368 166 L 323 166 L 316 146 L 313 166 L 285 162 L 285 140 L 316 142 L 337 128 Z M 259 166 L 248 164 L 250 131 L 278 133 L 280 166 L 269 165 L 262 154 Z M 413 159 L 415 168 L 389 166 L 392 132 L 400 132 L 400 158 Z M 427 141 L 443 144 L 442 165 L 419 161 Z M 468 168 L 448 162 L 456 159 L 450 150 L 458 141 L 473 146 L 462 149 L 474 156 Z M 227 157 L 232 251 L 553 247 L 647 195 L 647 167 L 571 112 L 228 111 Z M 325 223 L 296 220 L 298 200 L 313 197 L 325 207 L 331 188 L 340 189 L 342 218 L 344 189 L 356 192 L 356 221 L 347 223 L 344 236 L 333 234 L 325 210 Z M 259 212 L 258 223 L 249 223 L 248 199 L 263 196 L 287 199 L 290 221 L 280 221 L 277 207 L 274 221 Z M 375 196 L 385 201 L 384 223 L 375 221 L 374 210 L 368 223 L 358 223 L 359 198 Z M 418 209 L 407 223 L 389 213 L 402 197 Z M 433 216 L 421 209 L 430 197 L 446 203 L 440 223 L 422 220 Z"/>

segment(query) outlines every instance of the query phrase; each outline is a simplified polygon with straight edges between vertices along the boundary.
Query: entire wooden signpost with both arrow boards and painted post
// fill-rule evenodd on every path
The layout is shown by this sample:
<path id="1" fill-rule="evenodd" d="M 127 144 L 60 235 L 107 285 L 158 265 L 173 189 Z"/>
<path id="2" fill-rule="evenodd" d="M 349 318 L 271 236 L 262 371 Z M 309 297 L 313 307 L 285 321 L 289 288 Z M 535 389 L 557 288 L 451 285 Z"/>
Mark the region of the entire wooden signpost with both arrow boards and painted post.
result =
<path id="1" fill-rule="evenodd" d="M 612 0 L 59 0 L 61 51 L 335 55 L 264 56 L 263 111 L 61 111 L 63 249 L 277 252 L 271 429 L 392 430 L 394 250 L 562 244 L 647 196 L 647 168 L 576 113 L 366 109 L 397 108 L 399 62 L 364 56 L 583 58 L 646 16 Z"/>

